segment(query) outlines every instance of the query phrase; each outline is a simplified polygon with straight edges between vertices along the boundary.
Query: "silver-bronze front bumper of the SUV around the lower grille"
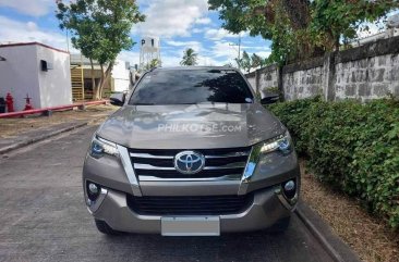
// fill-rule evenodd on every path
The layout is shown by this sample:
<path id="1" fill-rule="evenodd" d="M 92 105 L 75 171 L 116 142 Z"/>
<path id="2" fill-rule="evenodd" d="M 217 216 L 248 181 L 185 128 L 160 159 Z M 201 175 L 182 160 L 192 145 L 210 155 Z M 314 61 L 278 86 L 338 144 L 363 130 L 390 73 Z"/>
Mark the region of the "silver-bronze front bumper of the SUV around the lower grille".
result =
<path id="1" fill-rule="evenodd" d="M 120 158 L 87 155 L 83 169 L 83 186 L 88 210 L 96 220 L 105 221 L 116 230 L 131 233 L 161 233 L 161 215 L 143 215 L 129 208 L 126 195 L 156 196 L 244 196 L 254 194 L 254 200 L 244 211 L 218 215 L 220 232 L 249 232 L 264 229 L 290 215 L 295 208 L 300 190 L 300 171 L 297 154 L 278 152 L 264 155 L 250 177 L 216 180 L 140 180 L 135 176 L 125 148 Z M 249 161 L 250 163 L 250 161 Z M 295 179 L 297 195 L 287 200 L 282 183 Z M 87 199 L 86 182 L 99 185 L 98 200 Z M 190 214 L 189 214 L 190 215 Z M 170 216 L 170 215 L 168 215 Z M 176 215 L 178 216 L 178 215 Z M 194 215 L 196 216 L 196 215 Z"/>

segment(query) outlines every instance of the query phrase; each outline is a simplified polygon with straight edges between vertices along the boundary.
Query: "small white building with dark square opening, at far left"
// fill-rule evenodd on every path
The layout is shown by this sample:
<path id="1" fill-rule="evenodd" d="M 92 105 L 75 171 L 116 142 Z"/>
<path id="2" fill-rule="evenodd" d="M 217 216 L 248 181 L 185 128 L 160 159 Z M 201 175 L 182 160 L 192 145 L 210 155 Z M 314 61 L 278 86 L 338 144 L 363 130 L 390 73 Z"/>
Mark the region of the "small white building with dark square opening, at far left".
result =
<path id="1" fill-rule="evenodd" d="M 34 109 L 71 104 L 70 54 L 39 42 L 0 45 L 0 97 L 14 97 L 14 109 L 31 97 Z"/>

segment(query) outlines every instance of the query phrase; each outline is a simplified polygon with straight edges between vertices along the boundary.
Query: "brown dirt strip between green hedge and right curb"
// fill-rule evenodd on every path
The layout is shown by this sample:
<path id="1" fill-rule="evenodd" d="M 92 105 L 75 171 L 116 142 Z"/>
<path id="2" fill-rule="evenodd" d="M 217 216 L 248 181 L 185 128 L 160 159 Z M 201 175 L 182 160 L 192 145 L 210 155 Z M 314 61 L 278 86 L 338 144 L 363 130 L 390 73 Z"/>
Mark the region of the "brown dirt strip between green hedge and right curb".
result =
<path id="1" fill-rule="evenodd" d="M 306 172 L 302 162 L 302 199 L 365 262 L 399 262 L 399 233 L 371 216 L 361 203 L 335 192 Z"/>

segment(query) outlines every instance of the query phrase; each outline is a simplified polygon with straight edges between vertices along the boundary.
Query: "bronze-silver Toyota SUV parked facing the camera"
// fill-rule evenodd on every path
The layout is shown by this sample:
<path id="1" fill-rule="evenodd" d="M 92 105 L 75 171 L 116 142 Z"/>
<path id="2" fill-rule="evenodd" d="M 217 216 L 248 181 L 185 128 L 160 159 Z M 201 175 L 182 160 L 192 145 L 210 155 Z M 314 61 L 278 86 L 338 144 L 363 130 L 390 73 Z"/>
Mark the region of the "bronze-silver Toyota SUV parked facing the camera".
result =
<path id="1" fill-rule="evenodd" d="M 300 172 L 287 128 L 231 67 L 154 68 L 95 133 L 83 169 L 98 230 L 283 230 Z"/>

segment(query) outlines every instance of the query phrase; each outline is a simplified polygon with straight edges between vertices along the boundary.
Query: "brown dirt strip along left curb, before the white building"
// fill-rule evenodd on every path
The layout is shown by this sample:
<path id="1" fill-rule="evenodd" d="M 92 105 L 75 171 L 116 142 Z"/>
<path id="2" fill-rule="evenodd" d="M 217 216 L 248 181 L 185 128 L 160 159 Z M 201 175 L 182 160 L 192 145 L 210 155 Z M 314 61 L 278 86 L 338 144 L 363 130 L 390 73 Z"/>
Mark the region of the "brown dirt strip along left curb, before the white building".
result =
<path id="1" fill-rule="evenodd" d="M 89 105 L 86 110 L 53 112 L 51 116 L 27 115 L 25 117 L 0 118 L 0 138 L 71 121 L 89 121 L 89 124 L 96 124 L 104 121 L 117 109 L 118 107 L 114 105 L 100 104 Z"/>

